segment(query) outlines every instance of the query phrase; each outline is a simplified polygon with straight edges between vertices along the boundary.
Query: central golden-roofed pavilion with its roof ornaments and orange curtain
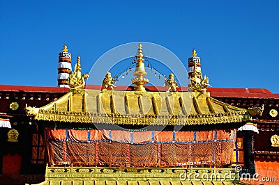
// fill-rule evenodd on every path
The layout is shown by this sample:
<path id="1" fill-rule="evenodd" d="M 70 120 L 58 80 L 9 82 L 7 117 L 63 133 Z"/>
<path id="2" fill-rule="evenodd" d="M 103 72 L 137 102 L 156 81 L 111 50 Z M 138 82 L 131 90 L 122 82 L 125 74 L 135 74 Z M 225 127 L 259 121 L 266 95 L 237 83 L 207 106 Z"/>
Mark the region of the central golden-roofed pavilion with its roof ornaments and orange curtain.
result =
<path id="1" fill-rule="evenodd" d="M 116 90 L 117 76 L 112 77 L 110 72 L 105 74 L 99 89 L 86 89 L 84 80 L 89 74 L 81 73 L 77 57 L 75 69 L 69 74 L 70 91 L 66 95 L 45 106 L 27 106 L 27 115 L 45 133 L 47 160 L 51 165 L 47 166 L 45 183 L 59 183 L 56 178 L 61 177 L 59 172 L 70 172 L 59 180 L 72 180 L 77 170 L 86 172 L 84 177 L 77 173 L 83 182 L 101 183 L 105 179 L 105 184 L 107 181 L 130 184 L 135 170 L 137 175 L 130 179 L 131 183 L 147 179 L 153 183 L 158 183 L 158 179 L 165 182 L 165 178 L 170 184 L 181 183 L 178 174 L 174 174 L 181 170 L 174 167 L 188 171 L 188 166 L 213 165 L 232 173 L 227 167 L 232 167 L 236 160 L 233 154 L 236 129 L 257 132 L 257 127 L 249 122 L 252 116 L 262 115 L 264 106 L 238 108 L 211 97 L 206 92 L 209 78 L 203 77 L 195 50 L 188 59 L 188 87 L 179 89 L 174 74 L 169 74 L 169 78 L 163 75 L 165 92 L 144 87 L 149 79 L 144 78 L 141 44 L 134 61 L 137 62 L 135 78 L 131 82 L 135 86 L 130 90 Z M 73 167 L 61 168 L 62 171 L 54 168 L 61 164 Z M 75 169 L 74 166 L 95 167 Z M 104 170 L 106 175 L 97 175 Z M 202 169 L 196 169 L 198 173 L 199 170 Z M 125 172 L 132 172 L 131 176 Z M 152 177 L 147 177 L 146 172 L 152 172 Z M 167 173 L 162 176 L 160 172 Z M 239 175 L 233 173 L 234 177 Z M 79 182 L 75 177 L 73 182 Z M 228 183 L 238 180 L 225 178 Z"/>

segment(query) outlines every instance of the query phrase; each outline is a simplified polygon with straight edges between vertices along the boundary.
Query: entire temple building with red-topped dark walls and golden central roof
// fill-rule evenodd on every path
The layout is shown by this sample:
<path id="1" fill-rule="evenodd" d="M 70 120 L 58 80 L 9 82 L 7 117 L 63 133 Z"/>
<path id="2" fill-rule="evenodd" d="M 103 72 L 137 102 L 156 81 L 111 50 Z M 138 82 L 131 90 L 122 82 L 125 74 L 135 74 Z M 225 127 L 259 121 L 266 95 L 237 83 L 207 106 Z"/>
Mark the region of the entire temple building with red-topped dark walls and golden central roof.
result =
<path id="1" fill-rule="evenodd" d="M 241 184 L 241 172 L 264 174 L 276 166 L 259 159 L 279 159 L 279 94 L 211 88 L 195 50 L 188 87 L 174 74 L 162 76 L 166 87 L 146 86 L 142 47 L 134 58 L 134 86 L 115 86 L 110 72 L 103 84 L 86 84 L 80 56 L 69 71 L 66 45 L 59 53 L 59 87 L 0 85 L 0 131 L 8 131 L 3 174 L 19 168 L 44 173 L 33 179 L 40 184 Z M 4 168 L 21 159 L 21 166 L 13 164 L 17 171 Z"/>

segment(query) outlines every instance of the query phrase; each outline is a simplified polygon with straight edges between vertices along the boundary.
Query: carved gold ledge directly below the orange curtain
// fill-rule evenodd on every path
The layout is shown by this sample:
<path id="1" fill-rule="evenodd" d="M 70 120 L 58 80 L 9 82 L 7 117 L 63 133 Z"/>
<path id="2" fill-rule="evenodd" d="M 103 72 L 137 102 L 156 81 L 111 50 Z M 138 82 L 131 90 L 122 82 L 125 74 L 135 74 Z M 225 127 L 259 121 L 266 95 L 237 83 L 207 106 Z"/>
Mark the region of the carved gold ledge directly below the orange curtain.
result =
<path id="1" fill-rule="evenodd" d="M 181 175 L 182 174 L 182 175 Z M 202 179 L 202 175 L 218 177 L 225 182 L 238 182 L 239 173 L 234 168 L 135 168 L 135 167 L 46 167 L 45 180 L 169 180 L 188 181 Z M 184 176 L 186 179 L 184 179 Z M 219 178 L 220 177 L 220 178 Z M 234 179 L 234 180 L 232 180 Z M 218 180 L 216 180 L 218 181 Z"/>

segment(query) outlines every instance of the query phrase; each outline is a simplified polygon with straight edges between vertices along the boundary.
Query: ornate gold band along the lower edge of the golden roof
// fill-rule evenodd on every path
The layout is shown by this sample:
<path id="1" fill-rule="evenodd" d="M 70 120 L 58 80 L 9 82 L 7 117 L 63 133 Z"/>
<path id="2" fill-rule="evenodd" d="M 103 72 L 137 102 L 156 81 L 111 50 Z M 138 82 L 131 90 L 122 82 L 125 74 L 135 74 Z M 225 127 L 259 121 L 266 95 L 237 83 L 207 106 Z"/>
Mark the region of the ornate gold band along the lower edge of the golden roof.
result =
<path id="1" fill-rule="evenodd" d="M 119 113 L 82 113 L 40 110 L 35 120 L 54 122 L 138 124 L 138 125 L 199 125 L 247 122 L 250 115 L 244 111 L 201 115 L 122 115 Z"/>

